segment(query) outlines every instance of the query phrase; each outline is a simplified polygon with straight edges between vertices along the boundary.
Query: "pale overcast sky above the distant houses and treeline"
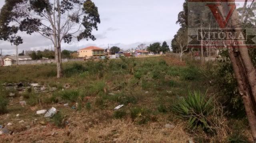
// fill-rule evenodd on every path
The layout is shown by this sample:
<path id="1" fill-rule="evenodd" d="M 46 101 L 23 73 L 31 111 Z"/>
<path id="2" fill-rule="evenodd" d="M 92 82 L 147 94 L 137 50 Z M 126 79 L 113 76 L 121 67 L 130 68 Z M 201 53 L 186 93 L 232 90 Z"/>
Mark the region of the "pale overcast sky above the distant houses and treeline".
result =
<path id="1" fill-rule="evenodd" d="M 149 45 L 164 42 L 170 46 L 171 40 L 180 28 L 176 24 L 178 13 L 182 11 L 183 0 L 92 0 L 98 7 L 101 23 L 93 34 L 96 40 L 70 44 L 62 43 L 62 50 L 78 50 L 87 46 L 108 48 L 118 46 L 123 50 L 136 48 L 139 44 Z M 0 8 L 4 0 L 0 0 Z M 20 33 L 22 50 L 53 49 L 52 42 L 39 34 Z M 15 54 L 15 46 L 10 42 L 0 41 L 3 55 Z"/>

